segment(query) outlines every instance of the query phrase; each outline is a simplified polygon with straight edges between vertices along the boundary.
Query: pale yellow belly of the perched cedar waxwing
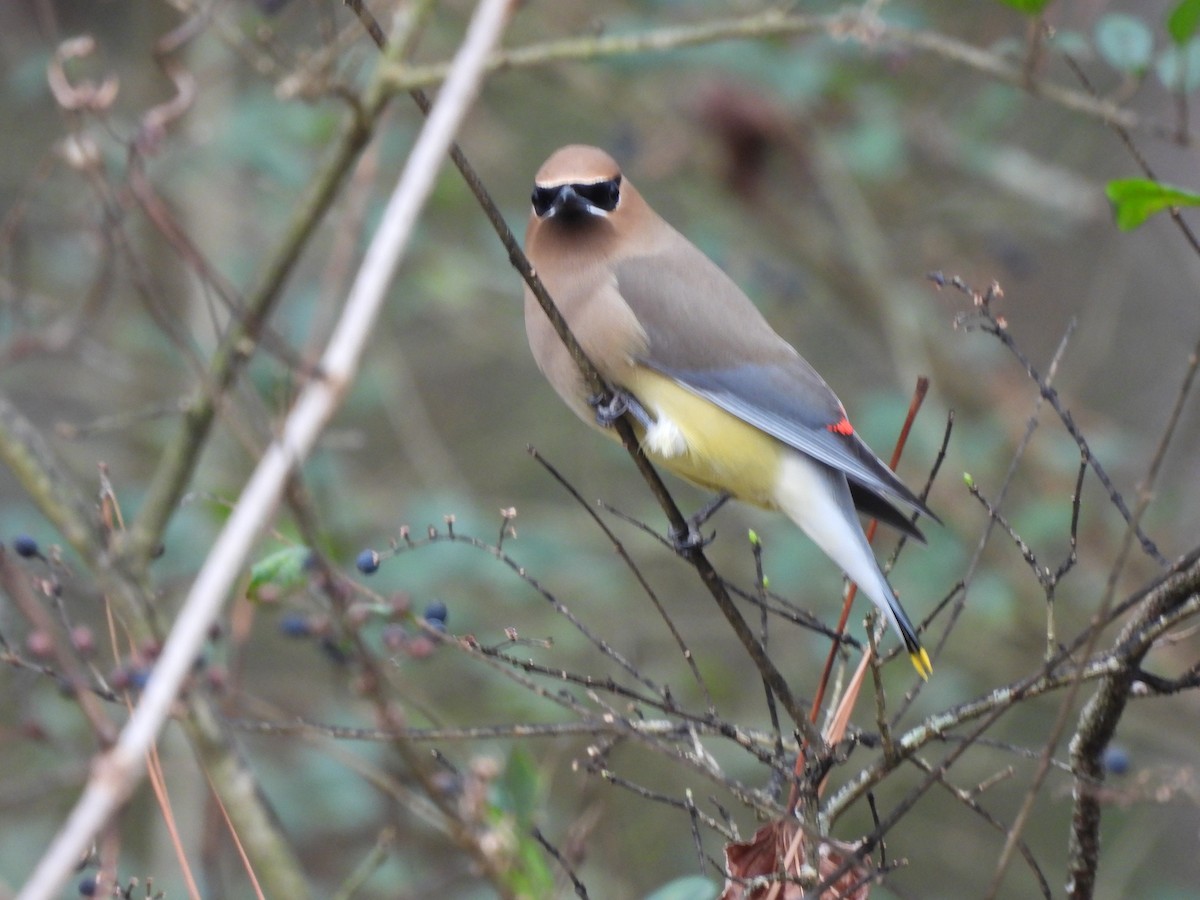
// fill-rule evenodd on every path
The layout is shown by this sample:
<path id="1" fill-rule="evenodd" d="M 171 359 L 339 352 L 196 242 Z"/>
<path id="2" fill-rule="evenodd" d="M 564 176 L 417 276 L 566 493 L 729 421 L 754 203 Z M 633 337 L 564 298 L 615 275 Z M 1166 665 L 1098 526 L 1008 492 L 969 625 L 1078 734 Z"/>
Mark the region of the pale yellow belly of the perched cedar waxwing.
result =
<path id="1" fill-rule="evenodd" d="M 679 446 L 664 454 L 646 440 L 638 426 L 650 460 L 703 487 L 775 508 L 776 479 L 787 451 L 782 443 L 648 368 L 636 367 L 623 386 L 650 416 L 673 422 L 682 438 Z"/>

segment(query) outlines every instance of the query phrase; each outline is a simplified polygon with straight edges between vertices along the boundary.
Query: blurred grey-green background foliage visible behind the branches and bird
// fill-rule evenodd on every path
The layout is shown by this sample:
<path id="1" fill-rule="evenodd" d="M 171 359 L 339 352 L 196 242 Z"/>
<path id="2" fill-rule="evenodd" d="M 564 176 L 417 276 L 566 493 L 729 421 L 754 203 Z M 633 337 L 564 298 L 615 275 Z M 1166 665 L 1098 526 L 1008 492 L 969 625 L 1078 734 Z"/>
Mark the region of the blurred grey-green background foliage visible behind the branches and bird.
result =
<path id="1" fill-rule="evenodd" d="M 640 31 L 767 6 L 751 0 L 529 0 L 505 43 Z M 804 10 L 838 6 L 812 2 Z M 1004 4 L 878 6 L 888 23 L 952 35 L 1015 65 L 1026 58 L 1031 25 Z M 438 4 L 416 61 L 446 59 L 469 8 L 457 0 Z M 1150 120 L 1176 121 L 1180 103 L 1190 97 L 1181 101 L 1169 88 L 1194 89 L 1200 66 L 1190 65 L 1193 44 L 1172 42 L 1166 32 L 1170 8 L 1133 1 L 1051 4 L 1046 14 L 1057 34 L 1037 60 L 1037 77 L 1079 88 L 1057 55 L 1063 47 L 1100 95 Z M 374 12 L 386 23 L 390 6 L 377 5 Z M 228 318 L 191 260 L 138 206 L 127 181 L 127 144 L 139 120 L 173 95 L 151 50 L 180 20 L 172 4 L 19 0 L 0 7 L 0 121 L 6 124 L 0 389 L 52 436 L 90 491 L 97 464 L 108 467 L 126 516 L 138 509 L 173 432 L 178 402 Z M 347 89 L 361 86 L 377 53 L 356 29 L 348 11 L 326 0 L 215 4 L 206 25 L 178 55 L 194 76 L 197 94 L 145 160 L 145 178 L 239 292 L 260 276 L 347 115 L 344 100 L 319 85 L 311 97 L 287 96 L 287 79 L 337 41 L 330 78 Z M 72 77 L 119 78 L 119 94 L 102 116 L 62 110 L 47 86 L 55 48 L 78 34 L 94 36 L 96 50 L 70 65 Z M 281 420 L 301 379 L 271 342 L 286 343 L 301 359 L 319 352 L 420 124 L 407 98 L 397 98 L 289 280 L 270 323 L 274 336 L 236 389 L 167 533 L 154 571 L 163 608 L 173 608 L 186 589 L 256 462 L 254 449 Z M 94 142 L 108 191 L 71 166 L 71 136 Z M 1165 181 L 1195 187 L 1194 151 L 1165 137 L 1136 132 L 1140 150 Z M 1117 487 L 1127 498 L 1135 496 L 1200 329 L 1195 282 L 1189 281 L 1198 260 L 1166 217 L 1133 233 L 1114 227 L 1104 184 L 1138 172 L 1098 119 L 1036 100 L 935 53 L 887 43 L 868 49 L 857 41 L 806 35 L 503 71 L 487 82 L 461 136 L 518 233 L 533 173 L 554 148 L 575 142 L 602 145 L 623 162 L 655 208 L 713 256 L 824 373 L 881 455 L 889 452 L 916 378 L 931 378 L 900 469 L 910 484 L 923 482 L 949 410 L 956 420 L 930 498 L 946 524 L 930 527 L 929 546 L 910 547 L 893 571 L 914 618 L 923 619 L 964 577 L 986 527 L 961 474 L 970 472 L 984 494 L 995 497 L 1037 396 L 998 343 L 954 328 L 966 301 L 938 292 L 928 271 L 958 274 L 979 287 L 1001 282 L 1008 328 L 1043 371 L 1074 323 L 1055 385 Z M 130 242 L 127 256 L 114 250 L 119 240 Z M 305 467 L 324 550 L 360 580 L 366 576 L 354 570 L 355 557 L 365 547 L 382 551 L 383 565 L 370 586 L 385 595 L 403 592 L 418 610 L 444 601 L 451 632 L 493 644 L 514 628 L 522 637 L 553 641 L 550 648 L 529 649 L 541 662 L 607 673 L 606 661 L 486 552 L 443 544 L 395 558 L 386 553 L 402 526 L 421 535 L 428 524 L 444 529 L 446 515 L 455 516 L 460 532 L 494 540 L 499 510 L 515 506 L 518 536 L 506 542 L 508 552 L 647 676 L 698 702 L 670 635 L 608 542 L 526 452 L 527 444 L 535 445 L 587 500 L 601 498 L 662 527 L 620 449 L 584 430 L 541 382 L 526 348 L 520 281 L 449 166 L 392 295 L 360 378 Z M 1146 518 L 1146 530 L 1168 558 L 1193 548 L 1200 533 L 1198 428 L 1190 404 Z M 1004 512 L 1051 566 L 1069 551 L 1078 464 L 1074 443 L 1043 410 Z M 690 487 L 672 486 L 685 509 L 704 499 Z M 7 472 L 0 472 L 0 497 L 5 541 L 29 534 L 49 547 L 60 540 Z M 722 714 L 764 727 L 761 685 L 745 677 L 749 664 L 694 572 L 637 530 L 619 522 L 613 527 L 679 623 Z M 295 540 L 286 517 L 277 528 L 259 558 Z M 712 557 L 727 577 L 754 582 L 744 538 L 754 528 L 766 547 L 772 587 L 833 617 L 839 574 L 790 523 L 734 506 L 719 515 L 715 528 Z M 1090 475 L 1079 523 L 1080 564 L 1057 592 L 1060 635 L 1086 625 L 1122 530 Z M 881 539 L 880 553 L 889 553 L 892 536 Z M 64 566 L 71 569 L 70 556 Z M 1123 572 L 1118 595 L 1156 571 L 1152 560 L 1139 557 Z M 65 586 L 72 616 L 103 632 L 95 588 L 70 575 Z M 224 673 L 230 715 L 372 724 L 371 708 L 337 654 L 329 647 L 323 652 L 317 640 L 281 631 L 286 614 L 317 614 L 318 607 L 302 588 L 276 605 L 238 602 L 234 614 L 242 617 L 247 641 L 238 647 L 215 642 L 209 660 Z M 1012 542 L 994 534 L 962 620 L 907 720 L 1034 670 L 1044 652 L 1044 619 L 1036 580 Z M 7 607 L 0 610 L 0 624 L 19 646 L 24 626 Z M 854 634 L 862 634 L 860 623 Z M 937 623 L 931 634 L 940 634 Z M 773 647 L 793 689 L 810 695 L 826 643 L 780 629 Z M 1176 665 L 1194 660 L 1196 638 L 1163 654 Z M 458 654 L 400 653 L 394 662 L 413 725 L 564 716 Z M 101 672 L 118 665 L 110 654 L 97 654 Z M 887 672 L 896 694 L 911 678 L 902 668 L 898 664 Z M 53 682 L 11 668 L 2 678 L 0 884 L 12 887 L 72 803 L 89 742 L 76 708 L 62 702 Z M 991 737 L 1038 748 L 1057 706 L 1057 696 L 1025 703 Z M 1190 896 L 1200 883 L 1198 713 L 1196 697 L 1184 695 L 1142 701 L 1127 714 L 1118 734 L 1127 772 L 1115 776 L 1106 810 L 1102 896 Z M 871 727 L 869 714 L 862 724 Z M 488 895 L 438 835 L 406 820 L 396 800 L 374 790 L 371 770 L 396 774 L 382 745 L 264 734 L 242 740 L 314 883 L 324 886 L 318 895 L 348 876 L 389 821 L 410 827 L 362 896 Z M 439 749 L 462 769 L 493 760 L 504 773 L 493 782 L 498 794 L 523 794 L 526 808 L 535 811 L 522 815 L 559 846 L 575 840 L 586 850 L 578 871 L 593 896 L 642 896 L 697 874 L 686 817 L 572 770 L 586 745 L 584 738 L 498 739 Z M 730 774 L 761 786 L 762 772 L 745 756 L 720 745 L 713 750 Z M 205 895 L 246 895 L 228 839 L 205 812 L 203 778 L 186 748 L 168 736 L 163 752 L 185 845 L 203 847 L 196 852 L 206 874 L 220 875 Z M 710 786 L 670 760 L 629 746 L 614 751 L 613 763 L 672 797 L 691 787 L 697 803 L 714 811 Z M 1019 776 L 1010 787 L 1001 784 L 986 794 L 989 810 L 1007 822 L 1033 764 L 997 748 L 964 761 L 955 779 L 970 786 L 1013 766 Z M 1066 773 L 1051 775 L 1027 832 L 1051 878 L 1066 857 L 1067 785 Z M 877 799 L 887 808 L 904 790 L 902 778 L 889 780 Z M 728 797 L 718 799 L 744 834 L 752 832 L 749 815 Z M 511 811 L 511 804 L 497 804 Z M 870 828 L 863 806 L 839 822 L 838 834 L 852 839 Z M 122 874 L 151 875 L 168 896 L 181 895 L 149 793 L 134 799 L 122 834 Z M 980 860 L 990 872 L 1001 844 L 1001 834 L 966 817 L 954 800 L 930 793 L 889 835 L 889 857 L 906 858 L 908 865 L 874 895 L 977 895 Z M 719 842 L 708 842 L 706 851 L 719 857 Z M 714 874 L 707 875 L 715 883 Z M 218 887 L 221 880 L 227 887 Z M 1032 892 L 1028 874 L 1014 866 L 1003 895 Z"/>

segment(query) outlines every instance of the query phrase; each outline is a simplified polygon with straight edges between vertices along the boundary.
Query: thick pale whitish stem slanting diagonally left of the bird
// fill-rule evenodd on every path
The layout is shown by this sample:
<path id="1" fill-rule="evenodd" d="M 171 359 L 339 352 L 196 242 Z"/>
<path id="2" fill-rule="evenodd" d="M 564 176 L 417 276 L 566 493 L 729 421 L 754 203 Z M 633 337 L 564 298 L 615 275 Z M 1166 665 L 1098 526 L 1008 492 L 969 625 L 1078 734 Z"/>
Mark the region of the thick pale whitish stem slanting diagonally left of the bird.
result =
<path id="1" fill-rule="evenodd" d="M 145 756 L 203 647 L 288 475 L 304 461 L 350 384 L 374 329 L 388 286 L 433 187 L 450 142 L 479 91 L 487 55 L 499 40 L 512 0 L 480 0 L 445 86 L 404 164 L 379 230 L 367 248 L 346 307 L 320 361 L 322 377 L 296 400 L 280 437 L 259 461 L 217 536 L 163 644 L 133 714 L 116 744 L 96 760 L 71 816 L 18 900 L 49 900 L 71 876 L 95 835 L 145 774 Z"/>

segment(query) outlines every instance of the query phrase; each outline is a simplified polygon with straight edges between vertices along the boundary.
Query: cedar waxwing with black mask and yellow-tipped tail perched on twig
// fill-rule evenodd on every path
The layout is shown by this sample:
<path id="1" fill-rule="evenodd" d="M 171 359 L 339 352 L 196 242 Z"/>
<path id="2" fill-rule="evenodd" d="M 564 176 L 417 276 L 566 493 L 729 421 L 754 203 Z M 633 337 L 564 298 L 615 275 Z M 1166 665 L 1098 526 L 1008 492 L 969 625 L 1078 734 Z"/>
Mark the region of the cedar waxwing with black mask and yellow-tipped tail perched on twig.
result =
<path id="1" fill-rule="evenodd" d="M 880 608 L 928 679 L 929 654 L 858 511 L 922 541 L 912 514 L 940 520 L 858 437 L 824 379 L 606 151 L 556 150 L 534 176 L 532 206 L 526 254 L 619 402 L 596 409 L 527 286 L 529 347 L 562 400 L 610 433 L 628 409 L 652 461 L 791 518 Z"/>

